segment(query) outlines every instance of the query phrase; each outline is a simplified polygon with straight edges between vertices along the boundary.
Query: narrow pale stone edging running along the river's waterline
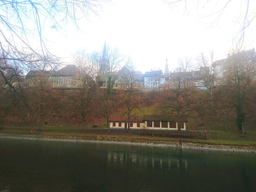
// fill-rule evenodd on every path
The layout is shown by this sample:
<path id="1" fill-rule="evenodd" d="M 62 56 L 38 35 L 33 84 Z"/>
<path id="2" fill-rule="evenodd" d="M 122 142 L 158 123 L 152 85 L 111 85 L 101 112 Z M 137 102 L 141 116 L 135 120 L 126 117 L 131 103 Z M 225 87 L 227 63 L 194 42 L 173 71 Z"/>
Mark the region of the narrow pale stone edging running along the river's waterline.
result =
<path id="1" fill-rule="evenodd" d="M 200 143 L 182 143 L 182 146 L 175 143 L 150 143 L 150 142 L 130 142 L 130 141 L 104 141 L 104 140 L 89 140 L 82 139 L 79 137 L 48 137 L 48 136 L 36 136 L 36 135 L 12 135 L 12 134 L 0 134 L 0 138 L 11 138 L 11 139 L 28 139 L 28 140 L 40 140 L 40 141 L 65 141 L 65 142 L 83 142 L 83 143 L 108 143 L 108 144 L 118 144 L 118 145 L 141 145 L 141 146 L 151 146 L 151 147 L 182 147 L 184 149 L 195 149 L 195 150 L 216 150 L 216 151 L 226 151 L 226 152 L 249 152 L 256 153 L 253 147 L 241 146 L 237 148 L 236 146 L 228 145 L 209 145 Z"/>

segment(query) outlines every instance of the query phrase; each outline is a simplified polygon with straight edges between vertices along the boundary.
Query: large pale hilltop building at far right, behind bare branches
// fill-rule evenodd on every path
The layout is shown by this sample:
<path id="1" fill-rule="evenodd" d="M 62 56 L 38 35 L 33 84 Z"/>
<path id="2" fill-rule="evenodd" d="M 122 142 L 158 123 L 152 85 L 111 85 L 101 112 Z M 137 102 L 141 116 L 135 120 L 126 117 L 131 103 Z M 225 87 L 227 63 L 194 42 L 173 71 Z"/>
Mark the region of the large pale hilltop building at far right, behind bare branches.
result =
<path id="1" fill-rule="evenodd" d="M 224 77 L 225 72 L 228 71 L 229 64 L 231 64 L 232 62 L 246 63 L 246 64 L 254 62 L 256 65 L 255 50 L 248 49 L 233 55 L 228 54 L 227 58 L 216 60 L 213 63 L 213 71 L 214 71 L 214 76 L 215 76 L 217 85 L 219 84 L 220 80 Z"/>

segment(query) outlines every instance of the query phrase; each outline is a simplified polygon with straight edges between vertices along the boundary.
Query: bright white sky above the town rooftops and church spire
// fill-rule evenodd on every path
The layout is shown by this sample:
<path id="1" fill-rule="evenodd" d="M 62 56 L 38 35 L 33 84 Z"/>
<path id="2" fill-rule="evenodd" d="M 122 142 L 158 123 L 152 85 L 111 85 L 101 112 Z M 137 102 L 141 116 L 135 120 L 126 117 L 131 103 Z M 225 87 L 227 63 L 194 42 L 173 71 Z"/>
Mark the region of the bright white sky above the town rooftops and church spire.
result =
<path id="1" fill-rule="evenodd" d="M 108 46 L 130 56 L 142 73 L 151 69 L 164 72 L 166 59 L 169 71 L 173 71 L 180 58 L 193 59 L 200 52 L 213 49 L 216 60 L 227 56 L 240 26 L 237 18 L 243 16 L 243 0 L 236 2 L 240 1 L 230 4 L 218 25 L 214 25 L 216 16 L 209 16 L 214 13 L 210 3 L 198 7 L 188 4 L 185 12 L 182 3 L 171 7 L 162 0 L 112 0 L 103 3 L 97 14 L 91 13 L 89 20 L 79 20 L 81 30 L 71 24 L 66 25 L 62 34 L 49 29 L 48 44 L 54 54 L 71 62 L 75 51 L 102 51 L 106 41 Z M 245 49 L 256 47 L 255 32 L 253 23 L 246 33 Z"/>

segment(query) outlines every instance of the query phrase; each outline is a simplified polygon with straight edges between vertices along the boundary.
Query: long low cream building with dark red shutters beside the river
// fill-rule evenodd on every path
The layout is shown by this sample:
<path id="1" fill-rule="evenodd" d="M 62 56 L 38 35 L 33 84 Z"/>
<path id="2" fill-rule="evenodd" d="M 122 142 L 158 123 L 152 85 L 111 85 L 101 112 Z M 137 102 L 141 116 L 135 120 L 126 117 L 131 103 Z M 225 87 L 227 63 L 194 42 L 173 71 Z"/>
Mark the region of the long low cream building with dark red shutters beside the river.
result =
<path id="1" fill-rule="evenodd" d="M 109 119 L 110 128 L 127 128 L 128 119 L 126 116 L 116 116 Z M 179 119 L 174 116 L 145 115 L 130 119 L 130 129 L 157 129 L 157 130 L 186 130 L 187 118 L 185 116 Z"/>

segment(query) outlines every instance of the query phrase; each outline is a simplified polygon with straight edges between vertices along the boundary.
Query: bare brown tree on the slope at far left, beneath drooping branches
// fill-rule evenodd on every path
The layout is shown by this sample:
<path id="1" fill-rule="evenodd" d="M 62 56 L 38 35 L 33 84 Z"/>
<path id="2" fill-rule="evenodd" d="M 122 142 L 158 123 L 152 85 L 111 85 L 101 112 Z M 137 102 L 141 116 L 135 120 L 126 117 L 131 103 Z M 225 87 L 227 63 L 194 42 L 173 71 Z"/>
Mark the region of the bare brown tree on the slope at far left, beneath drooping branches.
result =
<path id="1" fill-rule="evenodd" d="M 11 53 L 3 52 L 2 54 L 6 54 L 3 58 L 12 55 Z M 45 107 L 47 105 L 45 95 L 50 87 L 48 80 L 49 71 L 46 69 L 49 66 L 49 62 L 58 63 L 58 60 L 56 58 L 37 58 L 32 54 L 27 54 L 26 57 L 30 60 L 27 67 L 31 69 L 27 75 L 24 73 L 26 63 L 20 59 L 1 60 L 0 73 L 4 79 L 4 87 L 8 89 L 13 104 L 20 111 L 20 115 L 27 113 L 33 125 L 38 124 L 41 126 L 43 119 L 50 114 L 51 108 L 49 106 Z"/>

